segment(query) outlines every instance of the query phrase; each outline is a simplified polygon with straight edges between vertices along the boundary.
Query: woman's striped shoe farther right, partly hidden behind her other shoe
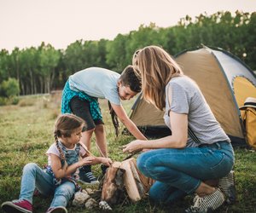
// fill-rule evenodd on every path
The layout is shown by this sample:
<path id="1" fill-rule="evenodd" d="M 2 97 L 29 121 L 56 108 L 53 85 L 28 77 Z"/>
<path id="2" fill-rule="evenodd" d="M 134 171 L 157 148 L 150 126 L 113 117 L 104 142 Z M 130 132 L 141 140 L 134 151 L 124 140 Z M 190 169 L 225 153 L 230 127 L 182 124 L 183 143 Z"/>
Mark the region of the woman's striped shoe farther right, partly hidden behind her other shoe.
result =
<path id="1" fill-rule="evenodd" d="M 227 176 L 219 179 L 218 187 L 224 193 L 227 204 L 234 204 L 236 202 L 236 187 L 235 187 L 235 173 L 231 170 Z"/>

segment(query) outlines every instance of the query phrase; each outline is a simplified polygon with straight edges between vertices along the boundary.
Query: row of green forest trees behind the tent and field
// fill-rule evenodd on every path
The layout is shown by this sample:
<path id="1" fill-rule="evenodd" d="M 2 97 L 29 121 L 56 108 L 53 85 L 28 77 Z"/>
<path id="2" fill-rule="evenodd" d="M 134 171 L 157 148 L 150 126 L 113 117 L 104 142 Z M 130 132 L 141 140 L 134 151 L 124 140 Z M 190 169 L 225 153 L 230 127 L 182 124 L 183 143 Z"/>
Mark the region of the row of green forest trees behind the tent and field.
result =
<path id="1" fill-rule="evenodd" d="M 113 40 L 77 40 L 67 49 L 55 49 L 44 42 L 38 47 L 16 47 L 11 52 L 1 49 L 0 97 L 62 89 L 69 75 L 89 66 L 122 72 L 131 64 L 133 53 L 147 45 L 159 45 L 170 55 L 177 55 L 201 43 L 225 49 L 256 70 L 256 12 L 236 11 L 232 15 L 222 11 L 195 18 L 187 15 L 176 26 L 141 25 L 137 31 L 118 34 Z"/>

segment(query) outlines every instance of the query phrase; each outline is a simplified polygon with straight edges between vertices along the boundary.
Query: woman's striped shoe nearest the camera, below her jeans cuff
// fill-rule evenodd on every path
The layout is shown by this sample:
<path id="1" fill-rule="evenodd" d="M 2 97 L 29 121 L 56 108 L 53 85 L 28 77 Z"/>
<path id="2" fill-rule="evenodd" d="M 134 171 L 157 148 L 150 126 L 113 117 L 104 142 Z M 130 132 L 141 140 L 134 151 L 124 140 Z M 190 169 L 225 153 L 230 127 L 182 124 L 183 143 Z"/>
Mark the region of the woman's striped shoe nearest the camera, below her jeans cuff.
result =
<path id="1" fill-rule="evenodd" d="M 196 196 L 194 205 L 185 210 L 187 213 L 207 213 L 216 210 L 219 206 L 224 204 L 224 194 L 218 188 L 214 193 L 208 194 L 204 197 Z"/>

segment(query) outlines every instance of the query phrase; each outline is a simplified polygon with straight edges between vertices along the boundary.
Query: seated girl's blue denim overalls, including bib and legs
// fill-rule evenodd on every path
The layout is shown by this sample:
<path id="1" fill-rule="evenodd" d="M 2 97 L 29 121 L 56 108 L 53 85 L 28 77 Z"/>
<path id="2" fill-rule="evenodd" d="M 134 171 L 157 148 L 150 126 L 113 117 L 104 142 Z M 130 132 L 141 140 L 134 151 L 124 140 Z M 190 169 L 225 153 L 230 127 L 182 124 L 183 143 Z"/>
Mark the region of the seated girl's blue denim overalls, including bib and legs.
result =
<path id="1" fill-rule="evenodd" d="M 79 145 L 74 150 L 67 150 L 61 142 L 58 143 L 65 155 L 67 165 L 79 161 Z M 61 164 L 64 164 L 64 161 Z M 77 176 L 75 172 L 68 178 L 65 177 L 57 180 L 49 165 L 42 169 L 35 163 L 26 164 L 23 169 L 19 199 L 26 199 L 32 203 L 33 193 L 35 188 L 37 188 L 39 193 L 42 193 L 44 196 L 54 195 L 49 207 L 65 207 L 68 201 L 72 199 L 73 194 L 80 190 L 76 180 Z"/>

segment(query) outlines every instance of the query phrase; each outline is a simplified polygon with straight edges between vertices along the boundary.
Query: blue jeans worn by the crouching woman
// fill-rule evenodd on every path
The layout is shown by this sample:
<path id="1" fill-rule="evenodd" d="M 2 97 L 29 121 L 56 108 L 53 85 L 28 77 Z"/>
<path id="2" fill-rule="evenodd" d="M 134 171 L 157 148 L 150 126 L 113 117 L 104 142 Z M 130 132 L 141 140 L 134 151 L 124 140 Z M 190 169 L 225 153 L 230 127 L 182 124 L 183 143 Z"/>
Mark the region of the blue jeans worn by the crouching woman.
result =
<path id="1" fill-rule="evenodd" d="M 219 141 L 201 147 L 163 148 L 142 153 L 137 167 L 144 176 L 155 180 L 149 198 L 169 204 L 194 193 L 201 181 L 226 176 L 234 165 L 233 147 Z"/>

